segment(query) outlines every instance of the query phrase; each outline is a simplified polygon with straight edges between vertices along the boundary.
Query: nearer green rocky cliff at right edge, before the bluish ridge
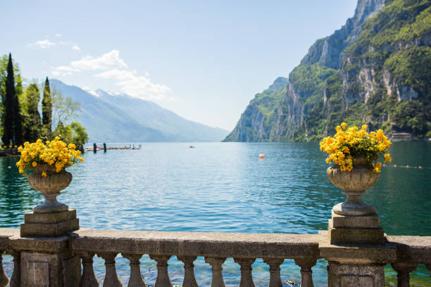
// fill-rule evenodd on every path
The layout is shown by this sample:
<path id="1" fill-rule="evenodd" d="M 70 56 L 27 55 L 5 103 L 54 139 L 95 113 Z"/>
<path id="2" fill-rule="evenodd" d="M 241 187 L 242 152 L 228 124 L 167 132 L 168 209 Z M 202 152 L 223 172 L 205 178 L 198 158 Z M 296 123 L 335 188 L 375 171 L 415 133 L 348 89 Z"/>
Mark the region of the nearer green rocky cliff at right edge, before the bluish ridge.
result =
<path id="1" fill-rule="evenodd" d="M 431 136 L 431 3 L 396 0 L 364 25 L 344 51 L 345 108 L 387 132 Z"/>

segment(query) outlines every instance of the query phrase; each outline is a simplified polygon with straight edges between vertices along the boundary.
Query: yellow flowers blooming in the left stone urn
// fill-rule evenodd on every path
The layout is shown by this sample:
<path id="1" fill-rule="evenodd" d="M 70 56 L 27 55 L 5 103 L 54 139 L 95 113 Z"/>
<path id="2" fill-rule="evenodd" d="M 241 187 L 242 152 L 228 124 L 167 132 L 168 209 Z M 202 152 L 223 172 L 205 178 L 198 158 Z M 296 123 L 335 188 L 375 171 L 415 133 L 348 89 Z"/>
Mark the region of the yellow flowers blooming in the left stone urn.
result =
<path id="1" fill-rule="evenodd" d="M 79 156 L 81 152 L 76 150 L 75 144 L 67 145 L 58 136 L 54 141 L 46 141 L 45 144 L 41 139 L 32 144 L 25 142 L 24 147 L 20 146 L 18 151 L 21 158 L 16 162 L 16 166 L 24 175 L 26 170 L 35 169 L 38 165 L 51 167 L 50 170 L 55 168 L 59 173 L 76 162 L 84 161 Z M 46 176 L 46 171 L 42 172 L 42 177 Z"/>

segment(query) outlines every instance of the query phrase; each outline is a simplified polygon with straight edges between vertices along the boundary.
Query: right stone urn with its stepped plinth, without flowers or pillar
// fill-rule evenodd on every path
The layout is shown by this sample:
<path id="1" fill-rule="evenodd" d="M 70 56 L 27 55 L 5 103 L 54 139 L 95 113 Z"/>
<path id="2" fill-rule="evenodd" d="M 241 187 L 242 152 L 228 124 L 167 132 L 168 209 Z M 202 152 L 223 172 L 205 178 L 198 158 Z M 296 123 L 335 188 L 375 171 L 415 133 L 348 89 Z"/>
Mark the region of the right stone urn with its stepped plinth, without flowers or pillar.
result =
<path id="1" fill-rule="evenodd" d="M 332 218 L 328 222 L 331 244 L 384 243 L 380 217 L 373 206 L 361 200 L 366 189 L 373 186 L 379 176 L 380 173 L 373 172 L 366 158 L 355 158 L 351 172 L 342 172 L 338 165 L 328 167 L 328 179 L 346 195 L 344 203 L 332 208 Z"/>

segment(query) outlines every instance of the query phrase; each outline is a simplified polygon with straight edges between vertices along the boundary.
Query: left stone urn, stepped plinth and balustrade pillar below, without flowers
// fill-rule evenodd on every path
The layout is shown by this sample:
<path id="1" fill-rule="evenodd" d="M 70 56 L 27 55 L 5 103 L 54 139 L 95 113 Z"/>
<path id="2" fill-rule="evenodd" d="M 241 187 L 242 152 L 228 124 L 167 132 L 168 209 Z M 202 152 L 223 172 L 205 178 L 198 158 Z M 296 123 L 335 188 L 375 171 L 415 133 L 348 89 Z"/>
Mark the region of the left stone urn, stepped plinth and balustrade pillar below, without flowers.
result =
<path id="1" fill-rule="evenodd" d="M 42 172 L 46 172 L 46 177 Z M 14 248 L 21 249 L 21 287 L 79 285 L 80 257 L 70 249 L 70 237 L 67 236 L 68 232 L 80 229 L 79 219 L 76 210 L 56 199 L 70 181 L 70 172 L 56 173 L 55 167 L 49 165 L 37 165 L 28 178 L 30 186 L 40 191 L 45 201 L 24 215 L 20 228 L 21 245 Z"/>

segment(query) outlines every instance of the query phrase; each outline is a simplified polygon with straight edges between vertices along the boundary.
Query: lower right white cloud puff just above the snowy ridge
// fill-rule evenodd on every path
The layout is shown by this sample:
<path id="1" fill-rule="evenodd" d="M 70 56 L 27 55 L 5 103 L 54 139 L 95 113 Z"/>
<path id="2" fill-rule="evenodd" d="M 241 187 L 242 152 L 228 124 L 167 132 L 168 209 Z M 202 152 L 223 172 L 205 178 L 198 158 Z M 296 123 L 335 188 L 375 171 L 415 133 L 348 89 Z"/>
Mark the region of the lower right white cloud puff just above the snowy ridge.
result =
<path id="1" fill-rule="evenodd" d="M 144 100 L 162 100 L 170 94 L 170 89 L 164 84 L 154 84 L 151 79 L 137 75 L 136 71 L 130 70 L 108 70 L 96 75 L 105 79 L 115 79 L 115 84 L 120 86 L 123 93 L 134 98 Z"/>

